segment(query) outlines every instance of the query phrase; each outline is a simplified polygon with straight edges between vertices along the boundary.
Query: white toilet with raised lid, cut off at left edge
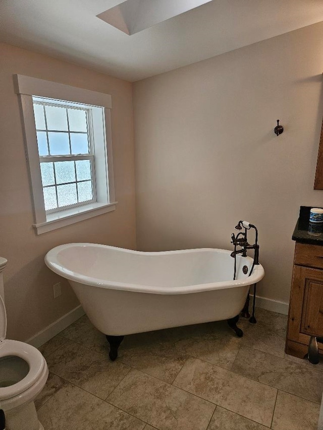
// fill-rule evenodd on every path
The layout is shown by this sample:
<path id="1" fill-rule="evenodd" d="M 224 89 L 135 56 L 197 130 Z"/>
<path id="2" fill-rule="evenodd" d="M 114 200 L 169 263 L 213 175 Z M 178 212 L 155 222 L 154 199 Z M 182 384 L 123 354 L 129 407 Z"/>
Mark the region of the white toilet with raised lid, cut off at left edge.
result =
<path id="1" fill-rule="evenodd" d="M 5 412 L 6 430 L 43 430 L 34 399 L 47 381 L 48 367 L 38 349 L 6 339 L 2 276 L 6 264 L 7 260 L 0 257 L 0 409 Z"/>

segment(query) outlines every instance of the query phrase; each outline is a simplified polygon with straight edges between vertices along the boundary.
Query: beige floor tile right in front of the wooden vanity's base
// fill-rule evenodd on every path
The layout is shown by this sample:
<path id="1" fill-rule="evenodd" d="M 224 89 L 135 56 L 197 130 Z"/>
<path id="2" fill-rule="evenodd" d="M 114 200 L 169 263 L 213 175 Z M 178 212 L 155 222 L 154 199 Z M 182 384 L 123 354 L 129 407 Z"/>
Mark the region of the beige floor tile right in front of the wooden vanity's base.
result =
<path id="1" fill-rule="evenodd" d="M 323 372 L 306 363 L 292 362 L 242 346 L 231 370 L 304 399 L 321 401 Z"/>

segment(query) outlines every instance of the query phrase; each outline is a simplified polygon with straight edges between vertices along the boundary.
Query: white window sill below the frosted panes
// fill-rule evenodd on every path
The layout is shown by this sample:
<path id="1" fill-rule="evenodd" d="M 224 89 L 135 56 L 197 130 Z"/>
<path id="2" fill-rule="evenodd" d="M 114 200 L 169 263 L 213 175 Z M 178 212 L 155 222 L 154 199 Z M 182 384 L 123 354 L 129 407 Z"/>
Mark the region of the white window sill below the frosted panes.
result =
<path id="1" fill-rule="evenodd" d="M 46 222 L 33 224 L 37 234 L 46 233 L 47 231 L 56 230 L 94 216 L 102 215 L 114 211 L 118 202 L 110 204 L 90 203 L 89 205 L 79 206 L 73 209 L 67 209 L 59 213 L 46 215 Z"/>

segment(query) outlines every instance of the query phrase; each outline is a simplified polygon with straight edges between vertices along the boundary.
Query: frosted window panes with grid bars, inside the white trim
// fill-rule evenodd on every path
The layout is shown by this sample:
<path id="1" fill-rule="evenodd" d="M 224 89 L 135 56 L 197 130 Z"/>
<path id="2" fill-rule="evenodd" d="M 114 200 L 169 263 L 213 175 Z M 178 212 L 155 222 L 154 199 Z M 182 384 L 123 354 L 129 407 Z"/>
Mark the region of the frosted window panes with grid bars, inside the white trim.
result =
<path id="1" fill-rule="evenodd" d="M 33 97 L 46 213 L 96 201 L 91 110 Z"/>

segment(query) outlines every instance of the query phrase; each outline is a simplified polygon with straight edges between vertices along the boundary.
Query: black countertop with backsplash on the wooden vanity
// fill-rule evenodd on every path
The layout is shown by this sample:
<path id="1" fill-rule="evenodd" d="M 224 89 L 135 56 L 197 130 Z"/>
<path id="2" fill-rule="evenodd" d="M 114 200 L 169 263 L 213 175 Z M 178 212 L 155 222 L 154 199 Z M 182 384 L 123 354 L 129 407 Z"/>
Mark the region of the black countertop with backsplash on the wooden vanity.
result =
<path id="1" fill-rule="evenodd" d="M 323 223 L 309 223 L 309 212 L 312 207 L 314 206 L 300 207 L 299 218 L 292 239 L 297 242 L 309 243 L 312 245 L 323 245 Z"/>

